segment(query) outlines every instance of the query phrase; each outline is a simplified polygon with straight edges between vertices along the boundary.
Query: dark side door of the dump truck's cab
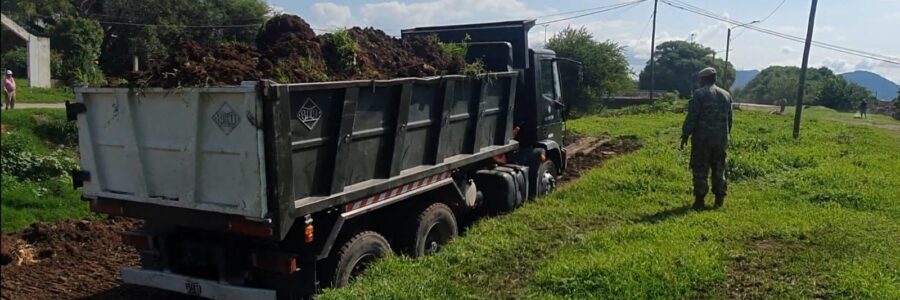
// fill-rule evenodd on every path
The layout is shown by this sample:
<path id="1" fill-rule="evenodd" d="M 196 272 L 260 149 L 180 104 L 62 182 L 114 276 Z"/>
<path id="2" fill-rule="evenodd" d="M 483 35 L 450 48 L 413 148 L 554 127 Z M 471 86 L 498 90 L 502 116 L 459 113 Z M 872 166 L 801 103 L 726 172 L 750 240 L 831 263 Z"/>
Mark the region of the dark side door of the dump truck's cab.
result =
<path id="1" fill-rule="evenodd" d="M 561 101 L 556 60 L 551 56 L 541 57 L 538 68 L 540 99 L 537 101 L 537 109 L 541 123 L 538 135 L 540 139 L 553 140 L 562 146 L 565 136 L 565 105 Z"/>

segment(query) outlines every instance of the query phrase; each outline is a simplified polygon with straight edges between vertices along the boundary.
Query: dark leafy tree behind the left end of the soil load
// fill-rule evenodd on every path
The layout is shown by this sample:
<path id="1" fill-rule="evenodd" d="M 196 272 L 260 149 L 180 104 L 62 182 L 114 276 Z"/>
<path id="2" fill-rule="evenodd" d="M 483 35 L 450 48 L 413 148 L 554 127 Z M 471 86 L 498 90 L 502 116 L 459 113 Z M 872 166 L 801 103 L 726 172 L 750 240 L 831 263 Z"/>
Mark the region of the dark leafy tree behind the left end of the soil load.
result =
<path id="1" fill-rule="evenodd" d="M 263 0 L 83 1 L 79 12 L 105 22 L 100 64 L 113 76 L 131 71 L 135 56 L 142 69 L 153 69 L 188 40 L 208 46 L 252 43 L 258 30 L 252 25 L 264 23 L 269 11 Z M 224 26 L 205 27 L 217 25 Z M 251 26 L 228 27 L 233 25 Z"/>

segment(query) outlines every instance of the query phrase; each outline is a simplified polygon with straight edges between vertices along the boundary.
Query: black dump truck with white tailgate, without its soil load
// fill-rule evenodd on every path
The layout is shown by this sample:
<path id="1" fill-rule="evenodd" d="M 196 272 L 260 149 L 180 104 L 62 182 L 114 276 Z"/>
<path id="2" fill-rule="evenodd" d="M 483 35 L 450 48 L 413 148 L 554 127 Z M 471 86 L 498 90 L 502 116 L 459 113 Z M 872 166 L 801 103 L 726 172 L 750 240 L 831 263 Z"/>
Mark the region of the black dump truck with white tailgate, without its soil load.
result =
<path id="1" fill-rule="evenodd" d="M 212 299 L 345 286 L 389 253 L 438 251 L 461 218 L 554 189 L 560 78 L 578 71 L 529 48 L 534 24 L 402 31 L 465 41 L 487 70 L 472 76 L 77 88 L 73 184 L 92 211 L 145 220 L 122 234 L 141 256 L 125 283 Z"/>

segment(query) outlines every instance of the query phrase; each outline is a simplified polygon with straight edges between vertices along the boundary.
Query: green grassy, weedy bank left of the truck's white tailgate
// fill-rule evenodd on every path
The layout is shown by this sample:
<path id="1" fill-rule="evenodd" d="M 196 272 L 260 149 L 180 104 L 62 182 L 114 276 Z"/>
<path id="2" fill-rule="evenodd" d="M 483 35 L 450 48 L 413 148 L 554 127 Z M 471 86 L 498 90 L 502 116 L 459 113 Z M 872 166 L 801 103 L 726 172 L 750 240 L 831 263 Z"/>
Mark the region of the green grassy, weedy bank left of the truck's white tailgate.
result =
<path id="1" fill-rule="evenodd" d="M 34 163 L 43 169 L 58 164 L 74 165 L 76 154 L 71 133 L 66 134 L 65 112 L 59 109 L 17 109 L 0 114 L 3 133 L 0 146 L 9 150 L 33 154 L 41 160 Z M 71 130 L 71 128 L 68 128 Z M 10 163 L 11 155 L 4 159 Z M 22 178 L 4 170 L 0 188 L 0 217 L 3 232 L 23 229 L 34 222 L 55 222 L 66 219 L 92 217 L 80 191 L 72 189 L 68 176 L 45 179 Z"/>

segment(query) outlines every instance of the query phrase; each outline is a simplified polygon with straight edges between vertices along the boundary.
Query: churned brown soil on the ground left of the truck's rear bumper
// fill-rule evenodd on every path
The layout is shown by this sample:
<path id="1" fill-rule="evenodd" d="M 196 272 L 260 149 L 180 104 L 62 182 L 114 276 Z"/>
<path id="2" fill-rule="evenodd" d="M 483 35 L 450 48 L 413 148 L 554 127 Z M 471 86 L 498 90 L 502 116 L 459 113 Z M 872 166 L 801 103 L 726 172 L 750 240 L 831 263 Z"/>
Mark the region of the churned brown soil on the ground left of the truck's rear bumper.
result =
<path id="1" fill-rule="evenodd" d="M 22 232 L 4 234 L 3 299 L 96 297 L 110 289 L 119 290 L 110 299 L 133 298 L 121 291 L 118 274 L 121 267 L 135 266 L 138 254 L 122 245 L 119 233 L 139 225 L 139 221 L 125 218 L 65 221 L 34 224 Z M 148 292 L 154 293 L 132 294 L 152 298 Z"/>

